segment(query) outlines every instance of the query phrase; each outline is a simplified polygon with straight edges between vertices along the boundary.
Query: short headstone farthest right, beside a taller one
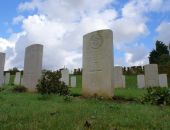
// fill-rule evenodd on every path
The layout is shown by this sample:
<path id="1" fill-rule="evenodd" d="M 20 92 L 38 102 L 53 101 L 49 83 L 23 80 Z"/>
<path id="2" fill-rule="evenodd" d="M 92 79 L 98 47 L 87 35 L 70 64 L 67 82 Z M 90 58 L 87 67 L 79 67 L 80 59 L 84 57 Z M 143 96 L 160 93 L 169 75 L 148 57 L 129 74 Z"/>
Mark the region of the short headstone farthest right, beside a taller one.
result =
<path id="1" fill-rule="evenodd" d="M 159 86 L 168 87 L 167 74 L 159 74 Z"/>

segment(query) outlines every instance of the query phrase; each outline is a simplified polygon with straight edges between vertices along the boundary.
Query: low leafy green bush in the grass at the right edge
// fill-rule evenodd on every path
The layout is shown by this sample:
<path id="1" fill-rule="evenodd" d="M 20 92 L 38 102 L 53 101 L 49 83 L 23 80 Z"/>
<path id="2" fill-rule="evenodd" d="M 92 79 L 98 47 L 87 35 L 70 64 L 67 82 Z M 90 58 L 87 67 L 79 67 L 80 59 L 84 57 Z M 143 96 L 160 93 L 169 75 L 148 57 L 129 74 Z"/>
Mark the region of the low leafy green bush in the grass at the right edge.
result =
<path id="1" fill-rule="evenodd" d="M 170 89 L 161 87 L 147 88 L 147 93 L 142 98 L 142 103 L 170 105 Z"/>

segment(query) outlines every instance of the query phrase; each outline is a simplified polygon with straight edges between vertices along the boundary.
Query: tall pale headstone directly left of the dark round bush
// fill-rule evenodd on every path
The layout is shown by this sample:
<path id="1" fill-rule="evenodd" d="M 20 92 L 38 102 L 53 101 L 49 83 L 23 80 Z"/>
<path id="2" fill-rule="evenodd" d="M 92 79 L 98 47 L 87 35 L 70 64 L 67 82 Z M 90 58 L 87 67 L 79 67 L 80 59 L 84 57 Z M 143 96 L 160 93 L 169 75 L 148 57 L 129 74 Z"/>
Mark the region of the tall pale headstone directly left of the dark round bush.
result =
<path id="1" fill-rule="evenodd" d="M 43 46 L 33 44 L 25 50 L 23 85 L 28 91 L 35 91 L 41 78 Z"/>

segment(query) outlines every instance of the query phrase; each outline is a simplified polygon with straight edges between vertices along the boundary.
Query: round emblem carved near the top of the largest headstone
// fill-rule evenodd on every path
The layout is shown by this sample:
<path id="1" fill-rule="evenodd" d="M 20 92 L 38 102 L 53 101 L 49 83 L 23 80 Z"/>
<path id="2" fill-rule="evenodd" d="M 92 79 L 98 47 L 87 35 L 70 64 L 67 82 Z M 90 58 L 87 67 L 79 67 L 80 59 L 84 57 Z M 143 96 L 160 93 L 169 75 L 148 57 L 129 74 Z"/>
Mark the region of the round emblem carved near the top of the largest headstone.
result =
<path id="1" fill-rule="evenodd" d="M 90 38 L 90 46 L 93 48 L 93 49 L 98 49 L 99 47 L 101 47 L 103 43 L 103 38 L 102 36 L 100 36 L 100 34 L 95 34 L 95 35 L 92 35 L 91 38 Z"/>

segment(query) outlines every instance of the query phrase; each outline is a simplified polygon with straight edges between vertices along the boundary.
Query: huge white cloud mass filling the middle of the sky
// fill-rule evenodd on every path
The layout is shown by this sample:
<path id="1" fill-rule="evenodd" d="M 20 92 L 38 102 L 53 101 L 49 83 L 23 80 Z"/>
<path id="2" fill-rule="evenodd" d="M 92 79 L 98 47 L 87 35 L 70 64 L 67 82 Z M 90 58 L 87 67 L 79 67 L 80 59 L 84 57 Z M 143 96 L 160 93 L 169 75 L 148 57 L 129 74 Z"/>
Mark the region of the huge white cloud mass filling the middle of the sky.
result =
<path id="1" fill-rule="evenodd" d="M 146 63 L 146 48 L 133 43 L 149 34 L 148 17 L 145 14 L 149 11 L 162 11 L 165 1 L 131 0 L 124 5 L 121 14 L 114 7 L 109 7 L 114 2 L 115 0 L 32 0 L 21 3 L 21 13 L 33 11 L 34 15 L 19 15 L 13 19 L 13 24 L 22 25 L 22 32 L 10 37 L 15 41 L 15 59 L 11 63 L 22 68 L 25 47 L 40 43 L 44 45 L 44 68 L 81 67 L 83 35 L 105 28 L 113 30 L 116 49 L 122 50 L 127 45 L 133 48 L 124 50 L 125 57 L 120 59 L 126 60 L 122 65 Z"/>

